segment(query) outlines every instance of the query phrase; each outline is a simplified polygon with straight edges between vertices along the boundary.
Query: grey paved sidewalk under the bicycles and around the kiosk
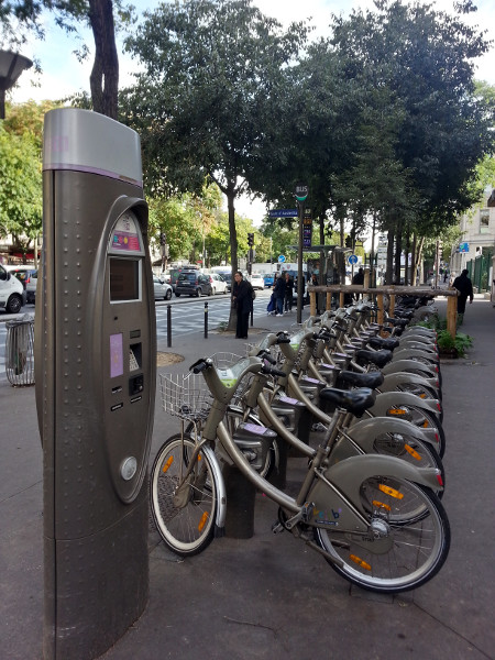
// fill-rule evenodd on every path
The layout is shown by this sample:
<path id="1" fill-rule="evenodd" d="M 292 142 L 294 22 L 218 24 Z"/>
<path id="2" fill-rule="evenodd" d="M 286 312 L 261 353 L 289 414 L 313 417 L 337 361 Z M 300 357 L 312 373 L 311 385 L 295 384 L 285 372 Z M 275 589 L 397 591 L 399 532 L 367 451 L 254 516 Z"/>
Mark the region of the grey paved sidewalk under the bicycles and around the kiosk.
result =
<path id="1" fill-rule="evenodd" d="M 439 302 L 442 307 L 443 301 Z M 305 317 L 307 316 L 307 310 Z M 295 321 L 292 315 L 290 322 Z M 267 317 L 250 331 L 282 330 Z M 447 491 L 452 546 L 442 571 L 416 592 L 377 596 L 350 585 L 287 532 L 273 536 L 276 506 L 256 496 L 255 534 L 218 539 L 178 560 L 150 536 L 150 603 L 105 660 L 486 660 L 495 659 L 495 309 L 475 296 L 464 360 L 442 364 Z M 202 332 L 161 342 L 185 361 L 244 352 L 242 340 Z M 0 659 L 41 660 L 43 626 L 42 451 L 34 388 L 0 384 Z M 151 460 L 176 420 L 157 400 Z M 289 485 L 298 461 L 290 460 Z"/>

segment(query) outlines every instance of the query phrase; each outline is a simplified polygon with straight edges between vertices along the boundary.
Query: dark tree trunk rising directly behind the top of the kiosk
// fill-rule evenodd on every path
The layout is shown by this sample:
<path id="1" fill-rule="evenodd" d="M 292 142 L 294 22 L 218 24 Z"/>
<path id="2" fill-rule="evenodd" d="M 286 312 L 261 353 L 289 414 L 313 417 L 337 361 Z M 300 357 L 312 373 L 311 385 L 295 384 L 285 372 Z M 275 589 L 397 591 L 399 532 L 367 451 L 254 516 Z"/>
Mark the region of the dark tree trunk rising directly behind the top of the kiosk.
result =
<path id="1" fill-rule="evenodd" d="M 89 23 L 95 37 L 95 63 L 89 79 L 96 112 L 118 119 L 119 57 L 112 0 L 89 0 Z"/>

